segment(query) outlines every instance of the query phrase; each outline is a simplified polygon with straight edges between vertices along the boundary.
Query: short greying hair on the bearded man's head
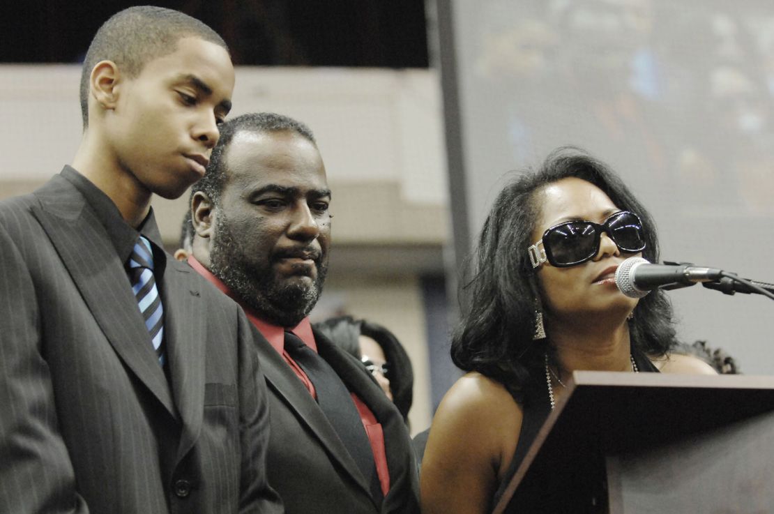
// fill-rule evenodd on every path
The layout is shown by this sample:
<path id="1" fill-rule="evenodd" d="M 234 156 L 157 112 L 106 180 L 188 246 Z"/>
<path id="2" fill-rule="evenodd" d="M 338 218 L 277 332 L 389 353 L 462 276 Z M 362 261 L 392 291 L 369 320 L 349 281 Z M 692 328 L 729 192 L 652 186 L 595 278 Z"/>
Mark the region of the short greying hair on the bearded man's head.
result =
<path id="1" fill-rule="evenodd" d="M 238 132 L 296 132 L 307 139 L 313 145 L 317 145 L 314 135 L 307 125 L 289 116 L 278 115 L 274 112 L 254 112 L 228 119 L 220 125 L 221 138 L 212 149 L 210 163 L 207 165 L 207 173 L 191 187 L 191 197 L 197 191 L 207 195 L 214 205 L 219 205 L 221 191 L 225 183 L 224 155 L 231 140 Z"/>

